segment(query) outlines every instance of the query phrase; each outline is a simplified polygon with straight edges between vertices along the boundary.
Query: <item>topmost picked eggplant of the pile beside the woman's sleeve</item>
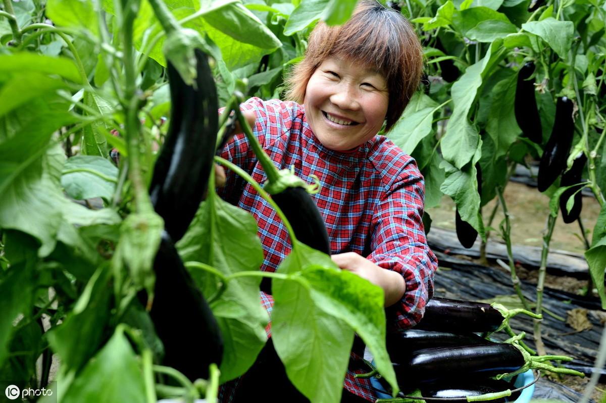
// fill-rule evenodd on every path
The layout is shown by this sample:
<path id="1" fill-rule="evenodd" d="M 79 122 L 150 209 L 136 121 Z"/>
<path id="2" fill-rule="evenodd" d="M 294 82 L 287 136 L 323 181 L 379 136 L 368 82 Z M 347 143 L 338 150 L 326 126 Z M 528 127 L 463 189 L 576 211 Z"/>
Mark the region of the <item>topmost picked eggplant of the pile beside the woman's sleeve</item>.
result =
<path id="1" fill-rule="evenodd" d="M 452 333 L 495 331 L 504 320 L 502 313 L 484 302 L 458 301 L 433 297 L 425 306 L 423 319 L 416 329 Z"/>

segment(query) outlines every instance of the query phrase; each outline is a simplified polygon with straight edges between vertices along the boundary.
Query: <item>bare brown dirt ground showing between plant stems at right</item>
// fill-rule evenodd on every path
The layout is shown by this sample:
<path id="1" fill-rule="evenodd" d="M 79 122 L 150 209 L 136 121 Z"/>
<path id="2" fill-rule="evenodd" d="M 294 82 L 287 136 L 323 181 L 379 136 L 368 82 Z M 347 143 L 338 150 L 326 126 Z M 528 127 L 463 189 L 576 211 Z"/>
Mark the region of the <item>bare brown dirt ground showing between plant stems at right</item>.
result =
<path id="1" fill-rule="evenodd" d="M 505 203 L 507 204 L 511 220 L 511 242 L 515 245 L 541 246 L 542 236 L 545 231 L 547 215 L 549 214 L 549 199 L 540 193 L 536 188 L 527 185 L 509 182 L 505 188 Z M 482 208 L 484 223 L 487 225 L 488 218 L 496 204 L 496 199 Z M 444 196 L 441 205 L 429 209 L 427 212 L 432 219 L 432 226 L 454 229 L 454 203 L 450 197 Z M 585 227 L 587 239 L 591 242 L 593 227 L 596 224 L 600 211 L 598 201 L 592 197 L 583 197 L 583 209 L 581 219 Z M 498 228 L 499 222 L 504 219 L 501 208 L 499 208 L 492 222 L 493 228 Z M 581 228 L 578 222 L 564 224 L 561 215 L 558 216 L 556 227 L 551 238 L 551 249 L 561 249 L 584 253 L 585 241 L 582 238 Z M 492 236 L 498 236 L 493 233 Z M 472 259 L 473 260 L 473 259 Z M 495 265 L 495 267 L 500 267 Z M 522 268 L 518 272 L 522 279 L 534 282 L 536 271 L 528 271 Z M 587 281 L 578 280 L 565 276 L 547 275 L 545 285 L 548 287 L 559 288 L 561 290 L 578 293 L 586 285 Z M 579 393 L 583 393 L 585 385 L 589 378 L 578 378 L 575 376 L 565 376 L 558 379 L 561 384 L 570 387 Z M 596 403 L 606 403 L 606 384 L 598 384 L 593 391 L 591 398 Z"/>

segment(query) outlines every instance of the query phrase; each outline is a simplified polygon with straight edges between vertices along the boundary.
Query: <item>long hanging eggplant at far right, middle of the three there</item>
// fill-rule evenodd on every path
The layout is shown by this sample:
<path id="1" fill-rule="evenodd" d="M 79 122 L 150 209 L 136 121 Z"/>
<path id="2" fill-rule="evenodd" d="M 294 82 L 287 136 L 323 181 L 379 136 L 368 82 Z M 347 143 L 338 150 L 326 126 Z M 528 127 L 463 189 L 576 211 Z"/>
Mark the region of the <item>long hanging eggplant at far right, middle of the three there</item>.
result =
<path id="1" fill-rule="evenodd" d="M 571 99 L 565 96 L 558 98 L 556 120 L 539 163 L 537 178 L 539 192 L 545 192 L 566 168 L 574 136 L 573 109 L 574 104 Z"/>

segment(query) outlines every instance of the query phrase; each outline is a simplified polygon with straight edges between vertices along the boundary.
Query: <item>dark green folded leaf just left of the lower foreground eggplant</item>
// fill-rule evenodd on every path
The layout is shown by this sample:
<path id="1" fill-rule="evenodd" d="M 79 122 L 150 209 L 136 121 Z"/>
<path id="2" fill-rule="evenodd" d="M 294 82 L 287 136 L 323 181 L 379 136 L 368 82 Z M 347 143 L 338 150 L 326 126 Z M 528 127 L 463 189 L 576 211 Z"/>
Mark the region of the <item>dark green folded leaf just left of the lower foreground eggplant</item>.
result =
<path id="1" fill-rule="evenodd" d="M 88 281 L 67 319 L 47 333 L 53 351 L 65 369 L 79 370 L 97 351 L 110 317 L 112 288 L 107 265 Z"/>

